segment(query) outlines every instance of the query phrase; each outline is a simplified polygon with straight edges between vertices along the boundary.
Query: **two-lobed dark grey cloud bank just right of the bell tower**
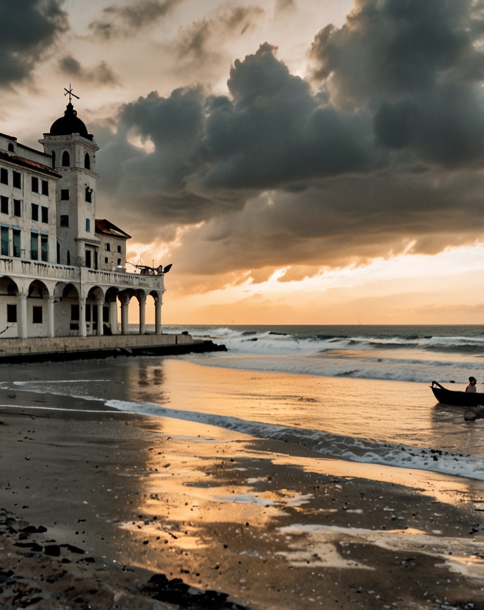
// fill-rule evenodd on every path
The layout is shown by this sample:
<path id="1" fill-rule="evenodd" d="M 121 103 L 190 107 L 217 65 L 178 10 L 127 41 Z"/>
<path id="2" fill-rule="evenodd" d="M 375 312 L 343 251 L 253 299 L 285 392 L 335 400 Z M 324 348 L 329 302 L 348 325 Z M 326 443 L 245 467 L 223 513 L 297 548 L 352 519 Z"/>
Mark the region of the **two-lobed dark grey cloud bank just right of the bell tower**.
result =
<path id="1" fill-rule="evenodd" d="M 235 62 L 231 98 L 185 88 L 124 106 L 115 140 L 125 146 L 134 129 L 155 151 L 124 161 L 120 192 L 140 195 L 165 222 L 191 223 L 240 209 L 247 193 L 260 188 L 299 189 L 316 176 L 365 170 L 371 161 L 361 142 L 371 131 L 369 117 L 321 105 L 324 99 L 273 51 L 262 45 Z M 99 163 L 116 150 L 103 151 Z"/>

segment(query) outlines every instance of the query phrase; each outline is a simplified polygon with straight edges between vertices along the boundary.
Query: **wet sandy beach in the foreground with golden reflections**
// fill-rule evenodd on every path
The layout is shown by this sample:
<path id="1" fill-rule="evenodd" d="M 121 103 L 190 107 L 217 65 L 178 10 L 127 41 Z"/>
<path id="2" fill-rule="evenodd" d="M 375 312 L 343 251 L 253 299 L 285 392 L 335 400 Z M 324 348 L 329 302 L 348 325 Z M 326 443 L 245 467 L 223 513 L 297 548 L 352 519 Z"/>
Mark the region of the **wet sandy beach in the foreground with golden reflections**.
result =
<path id="1" fill-rule="evenodd" d="M 0 607 L 484 608 L 482 482 L 82 404 L 0 407 Z"/>

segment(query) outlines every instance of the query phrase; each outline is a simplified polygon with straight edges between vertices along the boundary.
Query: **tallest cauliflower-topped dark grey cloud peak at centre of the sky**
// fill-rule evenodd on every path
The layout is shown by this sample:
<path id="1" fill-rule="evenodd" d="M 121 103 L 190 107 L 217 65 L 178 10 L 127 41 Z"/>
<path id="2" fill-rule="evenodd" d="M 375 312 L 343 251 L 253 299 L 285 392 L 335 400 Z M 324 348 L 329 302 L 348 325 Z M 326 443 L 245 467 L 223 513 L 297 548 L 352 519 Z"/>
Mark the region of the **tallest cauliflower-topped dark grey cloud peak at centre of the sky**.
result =
<path id="1" fill-rule="evenodd" d="M 231 98 L 208 100 L 207 187 L 299 187 L 307 179 L 371 165 L 369 117 L 327 105 L 273 51 L 265 44 L 243 62 L 236 60 Z"/>

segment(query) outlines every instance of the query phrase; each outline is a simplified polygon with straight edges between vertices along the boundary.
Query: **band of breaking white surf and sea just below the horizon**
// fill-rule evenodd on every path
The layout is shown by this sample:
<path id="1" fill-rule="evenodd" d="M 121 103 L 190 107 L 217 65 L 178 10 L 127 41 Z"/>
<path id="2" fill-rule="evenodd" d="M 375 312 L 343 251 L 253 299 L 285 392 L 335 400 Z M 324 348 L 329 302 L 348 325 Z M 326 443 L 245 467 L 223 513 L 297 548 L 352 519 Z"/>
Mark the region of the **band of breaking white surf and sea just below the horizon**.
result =
<path id="1" fill-rule="evenodd" d="M 484 381 L 484 326 L 172 326 L 224 343 L 190 356 L 217 367 L 329 377 L 463 384 Z"/>

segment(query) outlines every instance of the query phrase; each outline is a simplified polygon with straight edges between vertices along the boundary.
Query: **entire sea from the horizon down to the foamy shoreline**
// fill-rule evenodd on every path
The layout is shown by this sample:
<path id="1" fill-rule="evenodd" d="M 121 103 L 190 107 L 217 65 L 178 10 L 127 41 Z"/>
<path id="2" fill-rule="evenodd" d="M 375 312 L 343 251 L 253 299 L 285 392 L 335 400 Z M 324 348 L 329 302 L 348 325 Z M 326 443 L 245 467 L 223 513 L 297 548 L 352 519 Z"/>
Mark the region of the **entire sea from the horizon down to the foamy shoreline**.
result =
<path id="1" fill-rule="evenodd" d="M 12 366 L 2 401 L 13 404 L 15 391 L 15 406 L 44 408 L 41 394 L 56 409 L 175 417 L 338 459 L 484 480 L 484 419 L 464 421 L 464 409 L 436 403 L 429 388 L 464 389 L 473 375 L 484 392 L 484 326 L 164 328 L 228 351 Z"/>

